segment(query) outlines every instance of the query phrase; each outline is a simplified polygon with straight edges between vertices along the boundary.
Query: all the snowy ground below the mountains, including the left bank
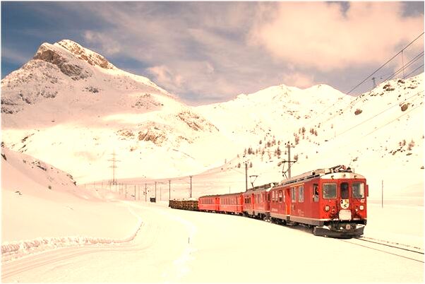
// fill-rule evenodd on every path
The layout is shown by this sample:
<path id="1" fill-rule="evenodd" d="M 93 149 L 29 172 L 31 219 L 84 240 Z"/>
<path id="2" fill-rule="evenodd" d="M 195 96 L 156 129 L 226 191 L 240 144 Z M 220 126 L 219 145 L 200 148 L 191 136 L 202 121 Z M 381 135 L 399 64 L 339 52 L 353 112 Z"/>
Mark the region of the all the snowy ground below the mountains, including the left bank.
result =
<path id="1" fill-rule="evenodd" d="M 137 185 L 128 184 L 127 194 L 122 186 L 121 194 L 119 187 L 115 191 L 100 183 L 76 187 L 71 177 L 46 163 L 6 149 L 2 154 L 7 159 L 1 167 L 2 282 L 424 280 L 424 207 L 414 203 L 401 206 L 384 199 L 381 208 L 380 200 L 371 200 L 364 236 L 422 254 L 315 237 L 304 227 L 179 211 L 168 208 L 167 201 L 145 202 L 143 194 L 139 201 Z M 19 176 L 22 170 L 27 178 Z M 210 182 L 208 175 L 197 179 Z M 187 194 L 186 189 L 174 187 L 172 194 Z M 204 190 L 193 187 L 193 196 Z M 167 187 L 161 191 L 167 200 Z"/>

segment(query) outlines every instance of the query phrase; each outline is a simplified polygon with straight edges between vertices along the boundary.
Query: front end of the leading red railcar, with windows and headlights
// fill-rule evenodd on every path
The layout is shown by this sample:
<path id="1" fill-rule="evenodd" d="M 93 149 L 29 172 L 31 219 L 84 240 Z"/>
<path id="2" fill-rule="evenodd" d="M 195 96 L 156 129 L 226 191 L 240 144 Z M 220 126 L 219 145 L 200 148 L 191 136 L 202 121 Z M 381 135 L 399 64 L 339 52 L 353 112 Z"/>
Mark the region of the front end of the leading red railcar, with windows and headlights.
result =
<path id="1" fill-rule="evenodd" d="M 354 172 L 325 174 L 319 183 L 321 226 L 315 235 L 359 237 L 367 222 L 368 186 L 366 179 Z"/>

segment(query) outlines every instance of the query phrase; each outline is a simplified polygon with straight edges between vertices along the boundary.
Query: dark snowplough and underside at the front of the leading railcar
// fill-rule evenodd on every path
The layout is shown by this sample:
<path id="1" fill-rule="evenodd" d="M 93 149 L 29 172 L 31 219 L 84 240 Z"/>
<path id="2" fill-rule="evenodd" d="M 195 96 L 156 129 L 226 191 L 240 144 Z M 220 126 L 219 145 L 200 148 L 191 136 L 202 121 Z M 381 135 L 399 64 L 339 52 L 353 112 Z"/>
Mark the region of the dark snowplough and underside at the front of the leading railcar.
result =
<path id="1" fill-rule="evenodd" d="M 338 223 L 313 228 L 313 235 L 322 237 L 351 238 L 363 235 L 364 225 L 356 223 Z"/>

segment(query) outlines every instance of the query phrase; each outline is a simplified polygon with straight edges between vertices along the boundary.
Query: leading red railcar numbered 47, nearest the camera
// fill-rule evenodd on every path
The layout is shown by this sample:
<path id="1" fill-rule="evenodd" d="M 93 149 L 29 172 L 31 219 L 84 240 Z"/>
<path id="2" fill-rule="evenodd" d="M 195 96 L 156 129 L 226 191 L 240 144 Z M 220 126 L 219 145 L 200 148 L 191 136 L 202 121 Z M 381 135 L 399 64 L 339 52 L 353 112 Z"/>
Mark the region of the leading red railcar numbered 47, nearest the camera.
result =
<path id="1" fill-rule="evenodd" d="M 368 190 L 364 176 L 342 165 L 306 172 L 273 188 L 270 218 L 309 225 L 314 235 L 363 235 Z"/>

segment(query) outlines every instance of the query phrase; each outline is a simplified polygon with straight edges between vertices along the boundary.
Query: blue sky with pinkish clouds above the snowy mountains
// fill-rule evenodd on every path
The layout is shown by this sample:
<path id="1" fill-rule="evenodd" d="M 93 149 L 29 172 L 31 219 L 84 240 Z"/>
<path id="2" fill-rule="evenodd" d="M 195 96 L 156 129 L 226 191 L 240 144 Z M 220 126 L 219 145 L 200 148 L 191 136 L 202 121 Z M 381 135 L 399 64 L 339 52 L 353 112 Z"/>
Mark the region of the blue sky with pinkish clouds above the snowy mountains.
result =
<path id="1" fill-rule="evenodd" d="M 422 32 L 423 1 L 1 1 L 1 78 L 69 39 L 190 105 L 280 84 L 349 93 Z M 404 75 L 423 72 L 423 51 L 424 35 L 376 83 L 417 56 Z"/>

